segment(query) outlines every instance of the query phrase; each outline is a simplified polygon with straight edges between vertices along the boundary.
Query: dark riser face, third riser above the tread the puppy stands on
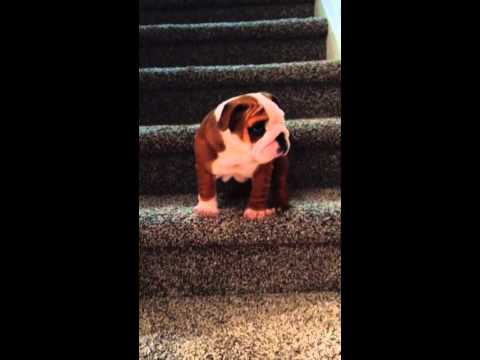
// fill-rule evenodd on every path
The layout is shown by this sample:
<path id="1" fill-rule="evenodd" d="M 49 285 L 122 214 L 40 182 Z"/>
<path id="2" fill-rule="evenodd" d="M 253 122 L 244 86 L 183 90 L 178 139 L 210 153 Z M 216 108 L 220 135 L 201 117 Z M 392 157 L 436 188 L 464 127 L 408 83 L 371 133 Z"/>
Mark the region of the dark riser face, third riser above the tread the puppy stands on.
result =
<path id="1" fill-rule="evenodd" d="M 140 67 L 267 64 L 323 60 L 325 39 L 151 44 L 140 49 Z"/>

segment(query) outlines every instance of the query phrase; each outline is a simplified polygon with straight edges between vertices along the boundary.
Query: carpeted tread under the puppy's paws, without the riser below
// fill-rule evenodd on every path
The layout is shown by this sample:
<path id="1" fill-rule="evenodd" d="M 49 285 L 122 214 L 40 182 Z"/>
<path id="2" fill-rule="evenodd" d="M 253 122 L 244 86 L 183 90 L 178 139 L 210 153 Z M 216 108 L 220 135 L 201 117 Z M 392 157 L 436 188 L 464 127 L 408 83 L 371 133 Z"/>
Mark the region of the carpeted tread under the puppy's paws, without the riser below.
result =
<path id="1" fill-rule="evenodd" d="M 290 194 L 292 208 L 259 221 L 242 217 L 246 199 L 219 194 L 220 215 L 199 218 L 196 194 L 139 198 L 140 241 L 145 248 L 340 243 L 339 188 L 302 189 Z"/>

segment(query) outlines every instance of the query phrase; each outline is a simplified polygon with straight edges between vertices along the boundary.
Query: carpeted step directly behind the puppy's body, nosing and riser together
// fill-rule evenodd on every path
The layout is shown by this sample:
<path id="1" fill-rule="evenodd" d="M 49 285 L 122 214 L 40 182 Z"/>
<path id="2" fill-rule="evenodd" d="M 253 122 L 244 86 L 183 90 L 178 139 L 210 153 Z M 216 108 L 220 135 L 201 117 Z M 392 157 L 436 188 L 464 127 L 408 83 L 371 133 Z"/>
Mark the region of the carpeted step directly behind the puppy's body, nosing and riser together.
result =
<path id="1" fill-rule="evenodd" d="M 199 125 L 142 126 L 139 134 L 140 194 L 196 193 L 193 142 Z M 340 184 L 341 119 L 287 120 L 291 136 L 289 187 Z M 243 185 L 218 182 L 219 193 Z"/>

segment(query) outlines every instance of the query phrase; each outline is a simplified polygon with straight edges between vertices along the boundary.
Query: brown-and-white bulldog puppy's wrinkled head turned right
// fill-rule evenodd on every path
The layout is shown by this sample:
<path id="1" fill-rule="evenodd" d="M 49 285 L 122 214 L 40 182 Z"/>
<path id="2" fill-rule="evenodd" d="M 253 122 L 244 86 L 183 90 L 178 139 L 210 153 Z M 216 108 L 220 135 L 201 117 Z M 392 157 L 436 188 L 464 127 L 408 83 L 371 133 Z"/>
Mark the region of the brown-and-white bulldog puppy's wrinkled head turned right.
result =
<path id="1" fill-rule="evenodd" d="M 214 113 L 226 145 L 247 147 L 258 163 L 268 163 L 289 152 L 285 114 L 273 95 L 240 95 L 218 105 Z"/>

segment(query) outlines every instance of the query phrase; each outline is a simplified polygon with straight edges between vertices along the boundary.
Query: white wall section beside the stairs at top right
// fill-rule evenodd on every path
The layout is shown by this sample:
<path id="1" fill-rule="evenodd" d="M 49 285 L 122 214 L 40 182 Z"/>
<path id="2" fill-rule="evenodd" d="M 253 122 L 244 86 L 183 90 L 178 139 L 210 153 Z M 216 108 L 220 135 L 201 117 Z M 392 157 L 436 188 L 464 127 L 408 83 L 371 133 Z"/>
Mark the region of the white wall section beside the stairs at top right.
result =
<path id="1" fill-rule="evenodd" d="M 315 15 L 328 19 L 327 59 L 342 58 L 341 0 L 315 0 Z"/>

